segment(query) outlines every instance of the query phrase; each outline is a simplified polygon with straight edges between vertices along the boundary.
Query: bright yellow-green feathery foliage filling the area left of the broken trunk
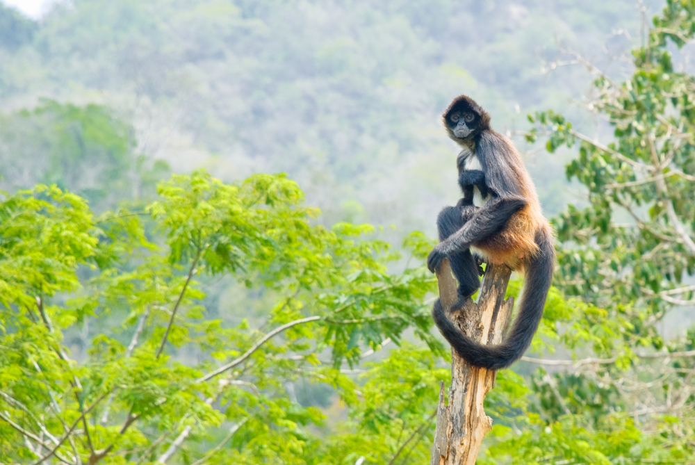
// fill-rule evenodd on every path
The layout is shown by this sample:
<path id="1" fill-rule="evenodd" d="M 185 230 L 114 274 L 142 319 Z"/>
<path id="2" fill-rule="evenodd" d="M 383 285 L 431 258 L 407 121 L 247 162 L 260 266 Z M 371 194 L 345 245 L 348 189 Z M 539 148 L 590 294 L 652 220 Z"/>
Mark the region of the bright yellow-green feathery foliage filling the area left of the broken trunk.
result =
<path id="1" fill-rule="evenodd" d="M 284 175 L 230 185 L 195 172 L 160 183 L 158 194 L 147 208 L 153 238 L 141 215 L 95 218 L 57 186 L 4 195 L 1 461 L 58 446 L 56 457 L 68 462 L 151 462 L 179 437 L 183 461 L 222 441 L 211 463 L 228 463 L 229 454 L 235 463 L 335 463 L 328 457 L 344 443 L 318 441 L 310 426 L 325 416 L 286 387 L 300 380 L 330 386 L 354 424 L 373 434 L 345 433 L 350 441 L 389 437 L 386 457 L 417 430 L 407 450 L 423 456 L 433 386 L 445 370 L 434 366 L 441 345 L 422 304 L 434 279 L 420 259 L 389 272 L 400 253 L 363 238 L 373 228 L 314 225 L 318 211 L 302 206 L 302 191 Z M 427 243 L 407 239 L 418 256 Z M 263 327 L 210 318 L 204 281 L 224 275 L 272 296 Z M 79 338 L 87 325 L 103 331 Z M 357 366 L 366 345 L 400 341 L 407 328 L 435 352 L 395 350 L 361 387 L 341 371 L 341 361 Z M 325 355 L 331 360 L 320 361 Z"/>

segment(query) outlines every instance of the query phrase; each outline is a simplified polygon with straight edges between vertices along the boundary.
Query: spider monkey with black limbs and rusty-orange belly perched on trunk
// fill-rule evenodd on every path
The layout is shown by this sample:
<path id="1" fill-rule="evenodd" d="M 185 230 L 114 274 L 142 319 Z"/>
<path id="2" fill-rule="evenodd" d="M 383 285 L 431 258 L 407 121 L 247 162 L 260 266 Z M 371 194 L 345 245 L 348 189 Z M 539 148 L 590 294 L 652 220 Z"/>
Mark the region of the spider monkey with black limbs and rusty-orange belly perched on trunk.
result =
<path id="1" fill-rule="evenodd" d="M 499 345 L 483 345 L 463 334 L 439 300 L 432 316 L 469 364 L 498 370 L 523 355 L 538 329 L 553 276 L 553 232 L 521 156 L 509 139 L 490 129 L 490 116 L 482 107 L 461 95 L 442 118 L 449 137 L 463 148 L 457 167 L 464 197 L 439 213 L 441 242 L 427 257 L 427 268 L 434 272 L 445 257 L 449 259 L 459 282 L 455 308 L 480 287 L 480 269 L 471 247 L 488 263 L 503 263 L 525 279 L 514 325 Z M 475 205 L 476 200 L 480 205 Z"/>

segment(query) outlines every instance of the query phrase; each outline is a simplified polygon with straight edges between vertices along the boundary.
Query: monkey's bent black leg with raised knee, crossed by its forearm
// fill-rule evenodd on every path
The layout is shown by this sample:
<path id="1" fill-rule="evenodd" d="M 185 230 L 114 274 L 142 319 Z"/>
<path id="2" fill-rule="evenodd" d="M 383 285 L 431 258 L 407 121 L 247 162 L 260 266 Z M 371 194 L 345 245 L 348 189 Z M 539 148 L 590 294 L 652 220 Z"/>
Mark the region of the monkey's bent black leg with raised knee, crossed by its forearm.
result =
<path id="1" fill-rule="evenodd" d="M 475 211 L 477 211 L 475 206 L 445 207 L 439 213 L 436 222 L 439 240 L 445 240 L 455 234 L 475 214 Z M 448 255 L 448 259 L 451 270 L 459 282 L 459 302 L 463 302 L 466 297 L 471 297 L 480 288 L 479 268 L 468 248 L 452 252 Z"/>

